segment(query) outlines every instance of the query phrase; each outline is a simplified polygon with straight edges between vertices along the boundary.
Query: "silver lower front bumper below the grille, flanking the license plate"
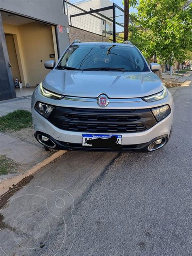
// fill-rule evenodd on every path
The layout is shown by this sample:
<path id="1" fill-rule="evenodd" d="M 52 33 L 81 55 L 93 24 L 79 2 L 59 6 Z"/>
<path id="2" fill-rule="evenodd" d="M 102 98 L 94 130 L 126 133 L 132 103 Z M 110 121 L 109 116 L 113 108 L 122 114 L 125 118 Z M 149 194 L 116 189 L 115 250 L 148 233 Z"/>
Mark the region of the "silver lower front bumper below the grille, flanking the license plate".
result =
<path id="1" fill-rule="evenodd" d="M 53 124 L 51 124 L 47 119 L 38 114 L 35 110 L 32 111 L 32 117 L 35 137 L 38 133 L 49 137 L 55 142 L 55 149 L 115 151 L 114 149 L 97 149 L 92 147 L 83 147 L 81 145 L 82 134 L 84 134 L 85 132 L 71 132 L 59 129 L 55 127 Z M 168 141 L 171 131 L 172 119 L 173 113 L 171 112 L 169 116 L 167 116 L 161 122 L 157 123 L 155 126 L 148 130 L 136 133 L 123 133 L 123 149 L 121 151 L 141 151 L 141 149 L 147 148 L 152 141 L 154 141 L 155 139 L 160 139 L 162 137 L 166 137 Z"/>

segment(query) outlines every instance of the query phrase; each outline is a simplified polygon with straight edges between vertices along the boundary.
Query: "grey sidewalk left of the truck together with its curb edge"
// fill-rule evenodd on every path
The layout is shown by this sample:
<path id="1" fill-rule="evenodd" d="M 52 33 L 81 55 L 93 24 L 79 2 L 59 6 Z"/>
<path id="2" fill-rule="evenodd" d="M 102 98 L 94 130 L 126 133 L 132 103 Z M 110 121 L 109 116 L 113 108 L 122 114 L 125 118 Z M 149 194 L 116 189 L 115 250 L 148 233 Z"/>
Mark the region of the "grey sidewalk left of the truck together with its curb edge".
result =
<path id="1" fill-rule="evenodd" d="M 17 109 L 31 111 L 31 96 L 0 101 L 0 116 Z M 34 171 L 40 169 L 42 162 L 45 166 L 65 152 L 45 151 L 43 145 L 34 138 L 32 126 L 17 132 L 0 132 L 0 142 L 0 157 L 6 159 L 6 162 L 11 165 L 7 174 L 0 173 L 2 174 L 0 175 L 0 192 L 6 188 L 9 189 L 15 182 L 19 182 L 21 180 L 19 177 L 23 178 L 29 172 L 31 174 L 32 169 Z M 0 164 L 4 164 L 4 162 L 0 162 Z"/>

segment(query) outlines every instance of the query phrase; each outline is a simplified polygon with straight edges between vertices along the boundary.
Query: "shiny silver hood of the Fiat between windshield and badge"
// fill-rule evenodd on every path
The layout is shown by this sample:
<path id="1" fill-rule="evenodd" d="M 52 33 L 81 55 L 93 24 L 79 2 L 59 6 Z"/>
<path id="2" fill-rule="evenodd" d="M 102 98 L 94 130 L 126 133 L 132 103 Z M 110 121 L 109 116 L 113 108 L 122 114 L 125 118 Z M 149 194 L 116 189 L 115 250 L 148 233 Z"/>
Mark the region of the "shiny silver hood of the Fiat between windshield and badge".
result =
<path id="1" fill-rule="evenodd" d="M 73 71 L 53 69 L 42 82 L 52 92 L 77 97 L 139 98 L 163 90 L 153 72 Z"/>

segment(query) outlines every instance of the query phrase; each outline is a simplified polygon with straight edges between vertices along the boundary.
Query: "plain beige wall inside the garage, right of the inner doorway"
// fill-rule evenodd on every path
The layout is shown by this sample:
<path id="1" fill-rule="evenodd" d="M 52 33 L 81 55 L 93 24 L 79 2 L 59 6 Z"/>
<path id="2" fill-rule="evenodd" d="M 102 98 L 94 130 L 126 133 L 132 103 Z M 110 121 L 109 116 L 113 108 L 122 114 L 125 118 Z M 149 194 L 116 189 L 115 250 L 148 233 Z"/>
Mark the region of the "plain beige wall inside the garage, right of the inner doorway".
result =
<path id="1" fill-rule="evenodd" d="M 27 81 L 31 86 L 40 83 L 50 70 L 45 69 L 44 63 L 53 54 L 53 35 L 51 26 L 40 22 L 32 22 L 18 27 L 22 51 L 26 67 Z"/>

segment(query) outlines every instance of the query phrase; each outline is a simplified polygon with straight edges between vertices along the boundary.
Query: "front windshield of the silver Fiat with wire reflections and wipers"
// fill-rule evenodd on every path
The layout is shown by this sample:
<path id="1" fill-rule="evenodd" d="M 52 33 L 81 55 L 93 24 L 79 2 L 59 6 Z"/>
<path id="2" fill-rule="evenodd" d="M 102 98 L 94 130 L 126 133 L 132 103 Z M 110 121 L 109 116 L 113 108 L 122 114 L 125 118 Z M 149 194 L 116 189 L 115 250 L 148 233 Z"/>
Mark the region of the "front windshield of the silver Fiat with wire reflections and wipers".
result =
<path id="1" fill-rule="evenodd" d="M 71 70 L 149 71 L 141 53 L 126 45 L 71 45 L 56 68 Z"/>

